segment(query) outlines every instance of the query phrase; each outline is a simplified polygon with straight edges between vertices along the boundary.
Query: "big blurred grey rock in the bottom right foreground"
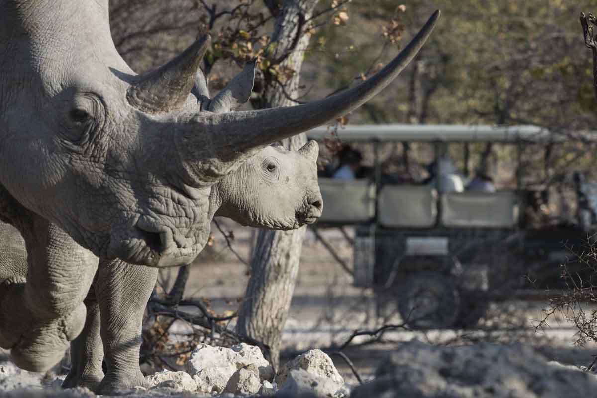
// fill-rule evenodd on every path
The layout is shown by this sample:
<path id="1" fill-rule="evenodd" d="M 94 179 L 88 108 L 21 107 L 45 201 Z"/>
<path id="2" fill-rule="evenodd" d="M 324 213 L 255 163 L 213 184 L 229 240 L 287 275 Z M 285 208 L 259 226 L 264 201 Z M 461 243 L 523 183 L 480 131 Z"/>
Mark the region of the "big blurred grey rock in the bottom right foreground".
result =
<path id="1" fill-rule="evenodd" d="M 547 363 L 524 345 L 435 347 L 402 345 L 378 367 L 376 379 L 351 398 L 550 398 L 595 394 L 595 376 Z"/>

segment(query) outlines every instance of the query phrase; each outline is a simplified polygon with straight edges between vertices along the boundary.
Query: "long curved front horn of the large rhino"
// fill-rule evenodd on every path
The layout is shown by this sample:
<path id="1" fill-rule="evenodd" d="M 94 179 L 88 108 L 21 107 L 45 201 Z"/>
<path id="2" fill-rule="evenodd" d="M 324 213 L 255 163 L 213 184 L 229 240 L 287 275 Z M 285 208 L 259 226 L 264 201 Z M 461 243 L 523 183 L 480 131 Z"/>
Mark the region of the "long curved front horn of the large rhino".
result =
<path id="1" fill-rule="evenodd" d="M 358 108 L 376 95 L 408 65 L 423 47 L 438 21 L 435 11 L 414 39 L 383 69 L 356 87 L 324 100 L 293 107 L 247 112 L 200 114 L 192 124 L 202 125 L 211 135 L 220 159 L 232 161 L 253 149 L 308 131 Z M 196 133 L 197 134 L 197 133 Z M 188 138 L 189 134 L 185 134 Z"/>

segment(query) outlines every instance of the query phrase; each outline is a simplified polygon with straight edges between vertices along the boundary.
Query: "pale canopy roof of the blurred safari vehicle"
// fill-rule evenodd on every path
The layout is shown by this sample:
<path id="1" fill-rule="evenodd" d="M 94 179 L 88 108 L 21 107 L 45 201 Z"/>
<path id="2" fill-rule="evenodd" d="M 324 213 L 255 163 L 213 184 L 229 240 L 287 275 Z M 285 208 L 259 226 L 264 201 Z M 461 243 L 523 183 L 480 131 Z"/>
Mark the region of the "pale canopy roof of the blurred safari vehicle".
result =
<path id="1" fill-rule="evenodd" d="M 307 132 L 312 140 L 330 138 L 331 129 L 318 127 Z M 563 141 L 562 135 L 533 126 L 497 127 L 490 125 L 347 125 L 338 128 L 338 138 L 343 142 L 494 142 L 494 143 L 536 143 L 547 144 Z"/>

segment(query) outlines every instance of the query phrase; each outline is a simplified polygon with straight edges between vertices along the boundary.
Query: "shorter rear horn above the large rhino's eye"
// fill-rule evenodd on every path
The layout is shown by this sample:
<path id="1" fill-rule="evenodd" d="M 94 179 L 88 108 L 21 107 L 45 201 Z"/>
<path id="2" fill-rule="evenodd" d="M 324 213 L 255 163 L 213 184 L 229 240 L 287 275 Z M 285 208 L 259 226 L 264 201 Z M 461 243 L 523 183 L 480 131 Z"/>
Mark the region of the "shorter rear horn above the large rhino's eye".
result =
<path id="1" fill-rule="evenodd" d="M 147 113 L 180 109 L 195 84 L 210 41 L 210 35 L 205 35 L 167 64 L 139 76 L 127 91 L 128 102 Z"/>

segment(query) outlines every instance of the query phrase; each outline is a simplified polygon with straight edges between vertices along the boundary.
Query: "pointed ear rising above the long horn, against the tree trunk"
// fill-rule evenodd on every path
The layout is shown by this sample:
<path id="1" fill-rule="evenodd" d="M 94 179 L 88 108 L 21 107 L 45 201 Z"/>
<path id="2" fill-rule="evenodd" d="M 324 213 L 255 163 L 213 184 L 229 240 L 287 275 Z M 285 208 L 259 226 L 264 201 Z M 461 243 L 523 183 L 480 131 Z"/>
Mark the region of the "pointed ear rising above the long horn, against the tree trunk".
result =
<path id="1" fill-rule="evenodd" d="M 222 91 L 211 100 L 208 110 L 214 113 L 230 112 L 246 103 L 251 97 L 255 83 L 255 62 L 247 63 L 241 73 L 235 76 Z"/>

